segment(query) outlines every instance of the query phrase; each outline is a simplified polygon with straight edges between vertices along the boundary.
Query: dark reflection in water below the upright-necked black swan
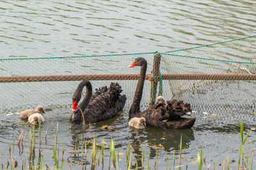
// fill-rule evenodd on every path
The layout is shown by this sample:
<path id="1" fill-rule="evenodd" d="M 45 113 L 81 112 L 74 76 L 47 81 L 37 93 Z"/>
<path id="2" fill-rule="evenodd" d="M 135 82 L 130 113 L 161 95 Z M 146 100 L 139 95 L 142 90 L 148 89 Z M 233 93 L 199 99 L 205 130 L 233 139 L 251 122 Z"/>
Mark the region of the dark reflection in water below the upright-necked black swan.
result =
<path id="1" fill-rule="evenodd" d="M 129 127 L 130 138 L 133 147 L 132 155 L 137 160 L 142 160 L 143 147 L 145 148 L 145 155 L 149 155 L 148 159 L 155 160 L 157 150 L 164 150 L 171 152 L 179 150 L 180 136 L 182 135 L 182 148 L 189 148 L 189 143 L 195 140 L 192 129 L 168 129 L 163 130 L 156 127 L 145 127 L 145 129 L 135 129 Z M 161 144 L 163 148 L 157 148 Z M 137 147 L 136 147 L 137 146 Z M 140 147 L 138 147 L 140 146 Z M 145 162 L 144 162 L 145 163 Z M 141 167 L 141 161 L 138 161 L 138 167 Z M 136 163 L 132 165 L 136 168 Z"/>

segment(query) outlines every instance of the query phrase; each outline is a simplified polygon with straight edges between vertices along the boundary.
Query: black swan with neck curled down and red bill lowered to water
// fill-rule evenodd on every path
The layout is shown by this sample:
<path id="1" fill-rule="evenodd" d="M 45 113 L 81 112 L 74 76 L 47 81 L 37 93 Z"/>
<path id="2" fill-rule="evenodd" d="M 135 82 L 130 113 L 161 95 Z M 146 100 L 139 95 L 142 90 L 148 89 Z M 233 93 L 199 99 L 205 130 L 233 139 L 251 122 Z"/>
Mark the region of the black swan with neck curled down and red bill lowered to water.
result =
<path id="1" fill-rule="evenodd" d="M 77 106 L 82 95 L 84 86 L 86 87 L 86 97 Z M 81 81 L 72 97 L 72 123 L 95 123 L 118 115 L 118 111 L 124 108 L 126 96 L 120 95 L 122 89 L 118 83 L 111 83 L 109 88 L 102 87 L 96 89 L 92 94 L 92 84 L 88 80 Z M 81 112 L 82 111 L 82 112 Z M 81 114 L 83 113 L 83 115 Z"/>

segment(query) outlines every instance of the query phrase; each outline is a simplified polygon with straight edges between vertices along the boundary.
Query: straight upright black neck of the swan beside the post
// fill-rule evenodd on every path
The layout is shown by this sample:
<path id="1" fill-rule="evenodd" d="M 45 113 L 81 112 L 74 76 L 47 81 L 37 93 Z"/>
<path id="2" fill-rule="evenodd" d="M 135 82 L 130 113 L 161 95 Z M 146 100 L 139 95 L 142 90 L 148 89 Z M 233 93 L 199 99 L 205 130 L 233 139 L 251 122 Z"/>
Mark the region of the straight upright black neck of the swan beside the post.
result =
<path id="1" fill-rule="evenodd" d="M 146 77 L 146 71 L 147 71 L 147 60 L 143 60 L 143 63 L 141 64 L 138 84 L 137 84 L 136 91 L 134 94 L 134 99 L 132 101 L 132 106 L 129 111 L 130 118 L 134 117 L 136 114 L 141 112 L 140 111 L 140 101 L 142 98 L 143 86 L 144 86 L 144 81 L 145 81 L 145 77 Z"/>

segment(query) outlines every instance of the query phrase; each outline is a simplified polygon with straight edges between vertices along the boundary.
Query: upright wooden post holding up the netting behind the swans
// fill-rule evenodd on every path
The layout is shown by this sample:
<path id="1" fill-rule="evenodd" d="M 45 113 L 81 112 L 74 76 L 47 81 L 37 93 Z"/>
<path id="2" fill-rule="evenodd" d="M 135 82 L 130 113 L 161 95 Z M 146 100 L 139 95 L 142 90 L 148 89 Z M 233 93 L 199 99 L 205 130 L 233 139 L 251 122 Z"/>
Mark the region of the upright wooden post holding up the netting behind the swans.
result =
<path id="1" fill-rule="evenodd" d="M 149 104 L 152 106 L 156 101 L 156 92 L 157 92 L 157 83 L 159 81 L 159 67 L 160 67 L 161 54 L 155 53 L 154 55 L 154 64 L 153 64 L 153 73 L 151 81 L 151 89 L 150 89 L 150 98 Z"/>

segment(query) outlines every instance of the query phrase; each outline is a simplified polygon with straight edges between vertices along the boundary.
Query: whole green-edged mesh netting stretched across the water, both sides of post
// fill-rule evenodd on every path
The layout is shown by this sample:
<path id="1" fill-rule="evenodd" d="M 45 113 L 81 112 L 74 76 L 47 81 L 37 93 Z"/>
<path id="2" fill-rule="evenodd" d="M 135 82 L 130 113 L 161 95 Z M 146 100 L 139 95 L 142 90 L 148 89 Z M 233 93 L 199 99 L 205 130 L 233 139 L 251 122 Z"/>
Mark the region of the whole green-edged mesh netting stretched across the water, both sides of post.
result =
<path id="1" fill-rule="evenodd" d="M 163 93 L 166 99 L 179 99 L 191 103 L 193 110 L 254 111 L 256 81 L 248 77 L 241 80 L 204 80 L 200 74 L 255 74 L 255 36 L 209 46 L 161 53 L 159 71 L 163 75 Z M 134 59 L 144 57 L 148 62 L 147 74 L 153 69 L 155 53 L 130 55 L 102 55 L 96 57 L 60 57 L 48 59 L 1 59 L 0 76 L 100 74 L 91 78 L 93 90 L 117 81 L 126 94 L 126 108 L 132 103 L 137 80 L 123 74 L 139 74 L 140 67 L 128 68 Z M 155 57 L 156 60 L 156 57 Z M 236 62 L 235 62 L 236 61 Z M 238 62 L 237 62 L 238 61 Z M 154 66 L 156 67 L 156 66 Z M 154 72 L 154 71 L 153 71 Z M 194 80 L 173 80 L 168 74 L 198 74 Z M 107 74 L 122 74 L 119 80 L 104 80 Z M 43 105 L 45 108 L 67 107 L 81 80 L 0 83 L 1 111 L 16 111 Z M 157 80 L 155 78 L 154 80 Z M 7 81 L 7 79 L 6 79 Z M 159 92 L 159 84 L 157 93 Z M 152 90 L 146 80 L 141 106 L 148 106 Z M 84 90 L 85 92 L 85 90 Z"/>

